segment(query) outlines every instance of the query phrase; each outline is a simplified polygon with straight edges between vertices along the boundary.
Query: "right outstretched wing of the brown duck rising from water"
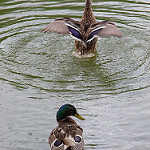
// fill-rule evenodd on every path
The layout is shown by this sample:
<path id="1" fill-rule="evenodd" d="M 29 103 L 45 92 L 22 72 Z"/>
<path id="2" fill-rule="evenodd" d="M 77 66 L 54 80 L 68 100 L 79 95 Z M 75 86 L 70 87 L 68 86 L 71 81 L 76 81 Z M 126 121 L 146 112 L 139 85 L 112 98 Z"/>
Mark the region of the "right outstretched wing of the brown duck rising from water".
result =
<path id="1" fill-rule="evenodd" d="M 101 36 L 122 37 L 122 34 L 114 23 L 111 23 L 109 21 L 98 22 L 91 27 L 91 33 L 88 37 L 87 42 L 93 40 L 95 37 Z"/>

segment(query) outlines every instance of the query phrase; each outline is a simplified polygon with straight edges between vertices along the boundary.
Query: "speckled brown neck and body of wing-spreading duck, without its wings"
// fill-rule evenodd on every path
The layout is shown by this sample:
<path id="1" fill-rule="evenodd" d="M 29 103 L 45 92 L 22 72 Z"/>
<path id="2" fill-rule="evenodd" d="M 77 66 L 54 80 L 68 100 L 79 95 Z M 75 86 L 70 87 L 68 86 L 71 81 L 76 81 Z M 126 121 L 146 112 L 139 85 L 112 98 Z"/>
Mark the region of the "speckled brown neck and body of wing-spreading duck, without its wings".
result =
<path id="1" fill-rule="evenodd" d="M 91 27 L 94 23 L 96 23 L 95 16 L 92 11 L 90 0 L 86 1 L 84 13 L 82 16 L 82 19 L 80 21 L 80 30 L 82 33 L 82 38 L 85 45 L 82 44 L 81 41 L 75 40 L 75 47 L 77 49 L 76 52 L 73 54 L 77 57 L 81 56 L 87 56 L 89 54 L 93 54 L 93 52 L 96 51 L 96 43 L 98 38 L 94 38 L 93 40 L 86 42 L 88 40 L 88 37 L 91 33 Z"/>

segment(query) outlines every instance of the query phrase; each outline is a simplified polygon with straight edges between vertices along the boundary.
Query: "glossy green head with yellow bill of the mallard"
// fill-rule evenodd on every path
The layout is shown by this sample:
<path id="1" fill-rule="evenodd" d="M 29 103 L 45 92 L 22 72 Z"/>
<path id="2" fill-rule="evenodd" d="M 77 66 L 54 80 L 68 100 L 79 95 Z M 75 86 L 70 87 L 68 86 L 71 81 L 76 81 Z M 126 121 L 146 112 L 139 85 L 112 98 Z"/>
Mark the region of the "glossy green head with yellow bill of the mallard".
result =
<path id="1" fill-rule="evenodd" d="M 65 104 L 59 108 L 56 118 L 57 118 L 57 121 L 61 121 L 68 116 L 75 116 L 80 120 L 85 120 L 82 116 L 78 114 L 76 108 L 73 105 Z"/>

